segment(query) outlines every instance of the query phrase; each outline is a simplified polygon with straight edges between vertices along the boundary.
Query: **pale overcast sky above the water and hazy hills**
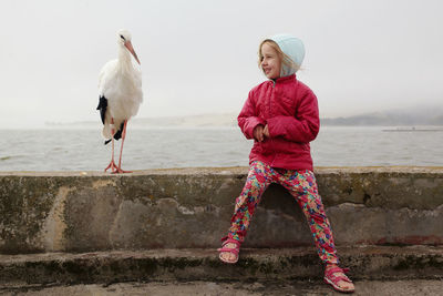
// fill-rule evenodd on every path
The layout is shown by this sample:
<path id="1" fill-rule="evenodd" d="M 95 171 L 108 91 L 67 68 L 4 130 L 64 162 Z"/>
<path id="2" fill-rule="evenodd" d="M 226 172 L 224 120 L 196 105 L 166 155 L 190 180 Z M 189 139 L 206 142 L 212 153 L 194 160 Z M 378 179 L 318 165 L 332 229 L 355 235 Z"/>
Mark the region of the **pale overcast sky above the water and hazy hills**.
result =
<path id="1" fill-rule="evenodd" d="M 238 113 L 266 80 L 259 42 L 303 40 L 298 78 L 322 118 L 443 104 L 439 0 L 0 0 L 1 127 L 100 121 L 97 76 L 128 29 L 142 62 L 138 118 Z"/>

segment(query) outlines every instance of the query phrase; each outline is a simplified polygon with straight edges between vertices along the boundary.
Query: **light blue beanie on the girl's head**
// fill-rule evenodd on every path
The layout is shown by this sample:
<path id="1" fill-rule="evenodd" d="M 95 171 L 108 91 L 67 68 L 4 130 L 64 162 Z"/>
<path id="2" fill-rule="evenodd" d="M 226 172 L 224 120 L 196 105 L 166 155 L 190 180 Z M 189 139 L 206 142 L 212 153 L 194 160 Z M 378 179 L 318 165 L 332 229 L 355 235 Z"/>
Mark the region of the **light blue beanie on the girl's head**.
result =
<path id="1" fill-rule="evenodd" d="M 297 72 L 297 70 L 301 67 L 301 63 L 305 59 L 305 45 L 303 42 L 290 34 L 277 34 L 269 38 L 274 42 L 278 44 L 281 51 L 288 55 L 292 62 L 295 62 L 298 67 L 281 67 L 280 76 L 288 76 Z"/>

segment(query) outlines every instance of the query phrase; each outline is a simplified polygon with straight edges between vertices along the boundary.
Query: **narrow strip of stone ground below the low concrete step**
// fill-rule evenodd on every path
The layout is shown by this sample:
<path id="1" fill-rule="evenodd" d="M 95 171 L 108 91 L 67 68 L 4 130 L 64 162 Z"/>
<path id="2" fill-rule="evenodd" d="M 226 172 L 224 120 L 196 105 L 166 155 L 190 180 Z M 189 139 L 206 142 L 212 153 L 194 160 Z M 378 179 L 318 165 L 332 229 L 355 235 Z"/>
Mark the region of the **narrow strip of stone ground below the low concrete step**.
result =
<path id="1" fill-rule="evenodd" d="M 443 279 L 360 280 L 353 295 L 409 296 L 443 295 Z M 151 282 L 117 283 L 112 285 L 71 286 L 1 286 L 0 295 L 343 295 L 333 292 L 320 280 L 316 282 Z"/>

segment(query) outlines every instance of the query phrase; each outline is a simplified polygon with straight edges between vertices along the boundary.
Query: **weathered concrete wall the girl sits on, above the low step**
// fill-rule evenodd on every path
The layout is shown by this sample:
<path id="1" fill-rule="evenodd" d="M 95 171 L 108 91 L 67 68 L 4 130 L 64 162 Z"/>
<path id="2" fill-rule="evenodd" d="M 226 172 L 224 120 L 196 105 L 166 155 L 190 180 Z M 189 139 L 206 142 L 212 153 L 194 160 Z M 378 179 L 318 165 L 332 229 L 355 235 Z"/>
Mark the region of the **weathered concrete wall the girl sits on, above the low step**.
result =
<path id="1" fill-rule="evenodd" d="M 0 253 L 216 247 L 247 167 L 0 172 Z M 443 244 L 443 167 L 317 169 L 337 245 Z M 311 246 L 297 202 L 265 193 L 246 247 Z"/>

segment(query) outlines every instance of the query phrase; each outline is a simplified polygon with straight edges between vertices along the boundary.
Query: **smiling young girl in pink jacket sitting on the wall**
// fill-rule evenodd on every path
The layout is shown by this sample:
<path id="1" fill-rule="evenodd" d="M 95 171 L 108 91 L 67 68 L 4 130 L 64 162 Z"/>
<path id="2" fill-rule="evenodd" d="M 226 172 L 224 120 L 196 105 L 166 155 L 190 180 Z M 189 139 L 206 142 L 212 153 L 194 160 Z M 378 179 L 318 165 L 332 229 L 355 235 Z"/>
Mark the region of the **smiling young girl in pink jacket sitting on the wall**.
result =
<path id="1" fill-rule="evenodd" d="M 237 263 L 250 220 L 270 183 L 285 186 L 302 208 L 320 259 L 324 282 L 339 292 L 353 292 L 352 282 L 338 266 L 336 246 L 312 173 L 309 142 L 319 127 L 317 98 L 296 72 L 305 58 L 302 42 L 288 34 L 266 39 L 259 47 L 259 67 L 269 79 L 255 86 L 238 115 L 247 139 L 254 139 L 249 174 L 235 204 L 228 235 L 222 238 L 219 258 Z"/>

